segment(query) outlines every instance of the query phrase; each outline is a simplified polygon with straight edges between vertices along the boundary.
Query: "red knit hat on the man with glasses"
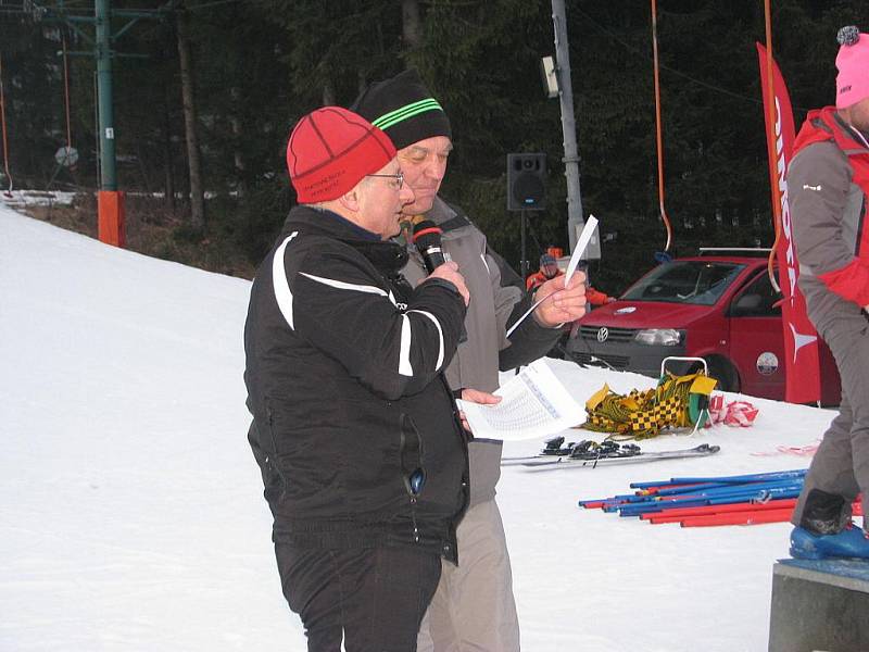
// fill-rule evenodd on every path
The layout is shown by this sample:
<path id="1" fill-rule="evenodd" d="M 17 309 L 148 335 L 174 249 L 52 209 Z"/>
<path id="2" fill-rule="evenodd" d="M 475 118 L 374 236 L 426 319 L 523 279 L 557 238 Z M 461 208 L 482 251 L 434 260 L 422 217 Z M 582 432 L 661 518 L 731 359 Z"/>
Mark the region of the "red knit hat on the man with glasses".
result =
<path id="1" fill-rule="evenodd" d="M 305 115 L 287 143 L 287 170 L 300 203 L 338 199 L 394 158 L 386 134 L 340 106 Z"/>

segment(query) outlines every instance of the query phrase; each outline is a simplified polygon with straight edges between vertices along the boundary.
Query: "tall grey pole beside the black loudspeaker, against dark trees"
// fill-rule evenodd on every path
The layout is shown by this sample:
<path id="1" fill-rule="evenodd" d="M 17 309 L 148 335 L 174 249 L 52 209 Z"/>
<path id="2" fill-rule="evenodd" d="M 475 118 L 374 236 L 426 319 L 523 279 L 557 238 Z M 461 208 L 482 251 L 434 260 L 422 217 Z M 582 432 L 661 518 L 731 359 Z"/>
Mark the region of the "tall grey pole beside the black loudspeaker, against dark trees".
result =
<path id="1" fill-rule="evenodd" d="M 562 104 L 562 133 L 564 135 L 564 175 L 567 177 L 567 236 L 570 251 L 585 221 L 582 217 L 582 199 L 579 192 L 579 151 L 577 125 L 574 118 L 574 88 L 570 83 L 570 51 L 567 43 L 567 14 L 564 0 L 552 0 L 552 23 L 555 32 L 555 61 L 558 75 L 558 101 Z M 585 258 L 589 258 L 588 255 Z"/>

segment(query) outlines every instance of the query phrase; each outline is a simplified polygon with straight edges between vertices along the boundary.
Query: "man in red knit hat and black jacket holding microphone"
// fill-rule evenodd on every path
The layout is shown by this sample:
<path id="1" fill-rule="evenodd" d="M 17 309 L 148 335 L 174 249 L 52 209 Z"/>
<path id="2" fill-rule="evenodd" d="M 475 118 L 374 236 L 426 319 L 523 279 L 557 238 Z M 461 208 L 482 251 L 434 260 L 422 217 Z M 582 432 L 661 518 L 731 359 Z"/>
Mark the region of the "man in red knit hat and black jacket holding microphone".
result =
<path id="1" fill-rule="evenodd" d="M 468 503 L 443 377 L 468 290 L 455 263 L 415 288 L 401 276 L 407 254 L 390 238 L 414 193 L 380 129 L 318 109 L 293 129 L 287 166 L 300 205 L 244 326 L 249 440 L 284 594 L 311 651 L 415 650 Z"/>

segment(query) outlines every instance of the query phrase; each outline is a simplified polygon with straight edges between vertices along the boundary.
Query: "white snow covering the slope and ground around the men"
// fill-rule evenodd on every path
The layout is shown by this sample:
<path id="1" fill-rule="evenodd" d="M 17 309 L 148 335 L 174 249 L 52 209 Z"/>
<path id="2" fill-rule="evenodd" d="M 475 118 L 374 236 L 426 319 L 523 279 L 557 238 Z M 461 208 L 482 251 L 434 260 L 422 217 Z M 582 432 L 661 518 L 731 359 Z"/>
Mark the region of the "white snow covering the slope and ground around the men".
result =
<path id="1" fill-rule="evenodd" d="M 248 292 L 0 205 L 0 650 L 306 649 L 245 441 Z M 651 386 L 553 366 L 581 402 L 603 383 Z M 632 480 L 807 466 L 754 453 L 816 443 L 831 413 L 750 400 L 752 428 L 643 444 L 719 444 L 711 457 L 504 468 L 524 649 L 766 650 L 790 526 L 681 529 L 576 504 Z"/>

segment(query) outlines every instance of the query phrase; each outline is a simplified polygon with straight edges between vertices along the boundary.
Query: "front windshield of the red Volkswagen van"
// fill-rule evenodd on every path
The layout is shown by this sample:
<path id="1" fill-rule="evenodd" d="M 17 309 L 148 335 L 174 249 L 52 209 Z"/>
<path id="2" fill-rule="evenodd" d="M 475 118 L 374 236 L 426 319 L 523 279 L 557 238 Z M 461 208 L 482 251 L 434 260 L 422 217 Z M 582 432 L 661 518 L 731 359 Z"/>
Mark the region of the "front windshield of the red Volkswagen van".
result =
<path id="1" fill-rule="evenodd" d="M 711 305 L 745 265 L 676 261 L 655 267 L 621 296 L 622 301 L 667 301 Z"/>

